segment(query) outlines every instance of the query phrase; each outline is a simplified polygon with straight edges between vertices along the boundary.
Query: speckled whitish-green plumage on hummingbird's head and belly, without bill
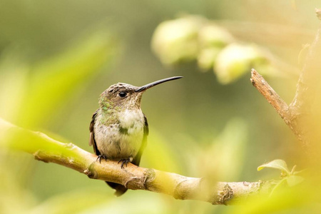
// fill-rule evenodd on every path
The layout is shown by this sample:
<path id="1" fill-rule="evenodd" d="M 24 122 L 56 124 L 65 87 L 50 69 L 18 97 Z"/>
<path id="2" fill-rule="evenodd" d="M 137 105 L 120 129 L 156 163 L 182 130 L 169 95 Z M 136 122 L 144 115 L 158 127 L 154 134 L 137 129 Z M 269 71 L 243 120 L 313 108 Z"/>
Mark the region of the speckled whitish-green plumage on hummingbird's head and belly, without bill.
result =
<path id="1" fill-rule="evenodd" d="M 134 92 L 137 88 L 117 83 L 101 93 L 93 132 L 98 151 L 108 159 L 132 161 L 141 148 L 145 121 L 141 111 L 142 93 Z M 119 98 L 120 91 L 126 91 L 128 97 Z"/>

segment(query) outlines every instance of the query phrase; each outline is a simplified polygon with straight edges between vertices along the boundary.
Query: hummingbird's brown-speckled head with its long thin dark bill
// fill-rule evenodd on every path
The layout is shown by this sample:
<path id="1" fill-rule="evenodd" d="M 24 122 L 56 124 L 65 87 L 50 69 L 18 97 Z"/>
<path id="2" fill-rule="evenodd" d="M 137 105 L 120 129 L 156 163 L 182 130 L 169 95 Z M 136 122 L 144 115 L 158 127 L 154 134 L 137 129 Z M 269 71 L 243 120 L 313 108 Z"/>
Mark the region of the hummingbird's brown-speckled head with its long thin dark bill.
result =
<path id="1" fill-rule="evenodd" d="M 160 83 L 165 83 L 166 81 L 175 80 L 182 78 L 183 76 L 173 76 L 170 78 L 164 78 L 153 83 L 148 83 L 145 86 L 132 86 L 127 83 L 117 83 L 106 91 L 101 93 L 101 98 L 99 99 L 99 106 L 103 110 L 108 109 L 136 109 L 141 107 L 141 96 L 148 88 L 156 86 Z"/>

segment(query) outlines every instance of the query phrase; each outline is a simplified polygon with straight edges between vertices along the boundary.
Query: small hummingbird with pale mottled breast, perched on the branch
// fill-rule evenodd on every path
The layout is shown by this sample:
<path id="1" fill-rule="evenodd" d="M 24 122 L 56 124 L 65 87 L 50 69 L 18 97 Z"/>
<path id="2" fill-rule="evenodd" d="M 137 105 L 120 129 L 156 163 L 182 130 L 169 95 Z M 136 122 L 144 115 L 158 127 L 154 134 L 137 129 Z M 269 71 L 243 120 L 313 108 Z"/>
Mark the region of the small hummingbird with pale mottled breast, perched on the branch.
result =
<path id="1" fill-rule="evenodd" d="M 139 165 L 148 136 L 148 122 L 141 111 L 141 97 L 148 88 L 182 77 L 164 78 L 141 87 L 116 83 L 101 93 L 99 108 L 93 113 L 89 126 L 89 146 L 93 146 L 99 163 L 101 159 L 109 159 L 121 163 L 121 168 L 128 163 Z M 106 183 L 116 190 L 116 196 L 123 195 L 127 190 L 121 184 Z"/>

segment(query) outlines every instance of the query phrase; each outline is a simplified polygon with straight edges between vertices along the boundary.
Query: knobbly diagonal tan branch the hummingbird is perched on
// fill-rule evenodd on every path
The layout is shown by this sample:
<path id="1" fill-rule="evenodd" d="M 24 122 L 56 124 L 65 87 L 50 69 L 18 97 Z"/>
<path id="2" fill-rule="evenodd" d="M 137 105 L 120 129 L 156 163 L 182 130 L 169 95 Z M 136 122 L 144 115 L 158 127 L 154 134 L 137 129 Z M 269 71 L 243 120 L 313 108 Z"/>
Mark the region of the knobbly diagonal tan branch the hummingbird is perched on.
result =
<path id="1" fill-rule="evenodd" d="M 117 161 L 96 161 L 97 156 L 73 143 L 61 143 L 41 132 L 19 128 L 0 118 L 0 146 L 31 153 L 36 160 L 64 165 L 89 178 L 121 183 L 132 190 L 150 190 L 181 200 L 203 200 L 215 205 L 237 203 L 249 196 L 267 195 L 273 180 L 258 182 L 218 182 L 190 178 L 175 173 L 142 168 L 131 163 L 124 169 Z"/>

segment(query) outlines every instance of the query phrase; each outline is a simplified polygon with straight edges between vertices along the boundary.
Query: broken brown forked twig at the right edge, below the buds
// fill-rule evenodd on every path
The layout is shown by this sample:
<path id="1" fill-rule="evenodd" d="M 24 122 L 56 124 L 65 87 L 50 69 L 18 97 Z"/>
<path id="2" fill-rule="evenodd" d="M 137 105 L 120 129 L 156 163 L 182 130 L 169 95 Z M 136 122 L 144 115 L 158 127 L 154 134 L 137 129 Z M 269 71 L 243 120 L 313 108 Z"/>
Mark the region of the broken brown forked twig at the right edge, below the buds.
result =
<path id="1" fill-rule="evenodd" d="M 316 10 L 317 16 L 320 16 L 320 10 Z M 297 81 L 297 90 L 293 101 L 289 106 L 285 101 L 277 95 L 272 87 L 260 76 L 260 74 L 252 70 L 251 82 L 253 86 L 263 94 L 267 101 L 275 108 L 277 113 L 285 121 L 287 126 L 291 128 L 295 136 L 302 144 L 305 151 L 315 153 L 315 142 L 318 141 L 314 131 L 311 128 L 311 121 L 317 120 L 311 112 L 312 105 L 315 100 L 318 84 L 321 78 L 321 25 L 315 36 L 315 40 L 310 46 L 307 57 L 305 58 L 305 66 Z"/>

